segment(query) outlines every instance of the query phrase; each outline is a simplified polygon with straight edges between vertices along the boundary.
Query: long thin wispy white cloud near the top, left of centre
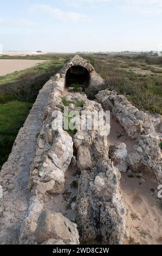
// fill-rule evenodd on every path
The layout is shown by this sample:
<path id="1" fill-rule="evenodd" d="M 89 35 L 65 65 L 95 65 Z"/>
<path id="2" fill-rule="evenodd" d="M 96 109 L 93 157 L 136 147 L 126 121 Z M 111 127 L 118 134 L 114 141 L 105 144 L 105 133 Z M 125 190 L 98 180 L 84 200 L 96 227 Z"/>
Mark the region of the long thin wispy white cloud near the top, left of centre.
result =
<path id="1" fill-rule="evenodd" d="M 88 17 L 84 14 L 75 13 L 72 11 L 63 11 L 58 8 L 53 8 L 50 5 L 46 4 L 35 4 L 30 10 L 41 10 L 44 13 L 54 17 L 55 19 L 59 19 L 62 21 L 85 21 L 88 20 Z"/>

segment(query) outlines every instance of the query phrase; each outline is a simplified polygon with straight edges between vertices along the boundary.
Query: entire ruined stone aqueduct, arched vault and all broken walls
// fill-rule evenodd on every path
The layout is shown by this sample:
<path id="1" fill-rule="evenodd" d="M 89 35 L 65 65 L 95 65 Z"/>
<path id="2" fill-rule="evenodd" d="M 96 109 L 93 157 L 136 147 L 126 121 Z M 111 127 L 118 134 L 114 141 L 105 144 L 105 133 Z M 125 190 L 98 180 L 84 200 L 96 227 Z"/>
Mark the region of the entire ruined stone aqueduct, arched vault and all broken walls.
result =
<path id="1" fill-rule="evenodd" d="M 74 220 L 66 212 L 67 217 L 63 216 L 55 206 L 55 195 L 62 193 L 70 165 L 81 170 L 75 216 L 84 241 L 100 237 L 101 244 L 124 243 L 128 230 L 120 172 L 129 168 L 139 175 L 142 170 L 157 184 L 162 182 L 161 115 L 140 111 L 125 96 L 109 89 L 90 101 L 84 93 L 65 89 L 72 83 L 86 88 L 102 84 L 103 79 L 76 55 L 40 90 L 1 169 L 0 244 L 79 243 Z M 83 107 L 71 103 L 73 110 L 110 110 L 126 136 L 134 141 L 131 153 L 125 143 L 108 147 L 105 127 L 99 131 L 77 130 L 74 136 L 62 127 L 54 132 L 53 111 L 61 111 L 63 96 L 71 102 L 84 102 Z M 109 124 L 106 129 L 110 130 Z"/>

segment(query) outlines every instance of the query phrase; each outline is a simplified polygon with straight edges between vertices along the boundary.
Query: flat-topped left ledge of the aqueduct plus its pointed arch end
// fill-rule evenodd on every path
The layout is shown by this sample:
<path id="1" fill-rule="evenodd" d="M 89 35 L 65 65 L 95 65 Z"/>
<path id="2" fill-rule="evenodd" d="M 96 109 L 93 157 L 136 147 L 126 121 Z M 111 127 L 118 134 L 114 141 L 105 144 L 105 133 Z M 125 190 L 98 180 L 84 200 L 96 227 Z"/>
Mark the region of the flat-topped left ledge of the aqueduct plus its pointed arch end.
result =
<path id="1" fill-rule="evenodd" d="M 3 198 L 0 198 L 0 244 L 18 243 L 21 223 L 27 215 L 30 204 L 28 182 L 35 159 L 36 134 L 42 129 L 46 115 L 44 111 L 50 101 L 54 101 L 55 88 L 59 87 L 60 92 L 61 90 L 63 92 L 63 88 L 66 87 L 67 71 L 73 66 L 81 66 L 88 71 L 89 87 L 103 82 L 93 66 L 76 55 L 40 90 L 23 127 L 18 132 L 8 161 L 1 169 L 0 185 L 3 188 Z"/>

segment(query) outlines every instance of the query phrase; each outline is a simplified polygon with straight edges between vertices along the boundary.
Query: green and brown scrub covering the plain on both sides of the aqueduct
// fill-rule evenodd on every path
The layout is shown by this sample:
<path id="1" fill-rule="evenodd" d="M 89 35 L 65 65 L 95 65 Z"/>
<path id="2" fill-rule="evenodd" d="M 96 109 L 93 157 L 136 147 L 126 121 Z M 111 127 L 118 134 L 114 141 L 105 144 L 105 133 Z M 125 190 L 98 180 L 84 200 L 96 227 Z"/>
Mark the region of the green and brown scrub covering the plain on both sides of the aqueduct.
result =
<path id="1" fill-rule="evenodd" d="M 42 59 L 47 60 L 27 70 L 16 71 L 0 77 L 0 169 L 7 160 L 17 132 L 24 123 L 39 90 L 51 76 L 56 74 L 74 54 L 40 54 L 37 56 L 2 56 L 1 59 Z M 99 90 L 109 88 L 123 94 L 131 103 L 144 111 L 162 114 L 162 58 L 157 54 L 129 52 L 120 54 L 82 54 L 104 79 L 105 84 L 86 88 L 89 99 L 95 99 Z M 77 91 L 79 84 L 72 84 Z M 67 102 L 83 107 L 84 102 Z M 9 106 L 14 105 L 14 108 Z M 9 110 L 7 111 L 7 108 Z M 59 105 L 63 110 L 63 106 Z M 16 116 L 16 117 L 15 117 Z M 20 118 L 20 119 L 18 119 Z M 9 130 L 8 130 L 8 127 Z M 71 136 L 76 131 L 68 131 Z M 162 143 L 159 144 L 162 149 Z M 133 178 L 134 175 L 128 175 Z"/>

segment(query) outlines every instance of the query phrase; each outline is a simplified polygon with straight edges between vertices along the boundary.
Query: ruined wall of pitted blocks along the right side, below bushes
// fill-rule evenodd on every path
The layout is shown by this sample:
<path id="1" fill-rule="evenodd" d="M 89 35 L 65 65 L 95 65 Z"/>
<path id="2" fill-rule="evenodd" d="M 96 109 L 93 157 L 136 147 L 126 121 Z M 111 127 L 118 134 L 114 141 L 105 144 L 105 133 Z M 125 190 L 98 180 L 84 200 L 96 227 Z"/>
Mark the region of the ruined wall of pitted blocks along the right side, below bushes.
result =
<path id="1" fill-rule="evenodd" d="M 103 108 L 112 111 L 129 137 L 137 139 L 133 152 L 125 159 L 127 166 L 134 172 L 142 171 L 149 174 L 161 184 L 162 150 L 159 147 L 162 141 L 161 115 L 140 111 L 132 106 L 125 96 L 116 95 L 108 89 L 100 91 L 96 99 L 102 103 Z M 117 151 L 120 147 L 121 145 L 117 145 Z M 125 148 L 122 152 L 123 150 Z M 114 152 L 113 149 L 113 154 Z M 113 154 L 111 154 L 113 160 L 118 158 Z M 122 154 L 121 157 L 123 158 Z"/>

